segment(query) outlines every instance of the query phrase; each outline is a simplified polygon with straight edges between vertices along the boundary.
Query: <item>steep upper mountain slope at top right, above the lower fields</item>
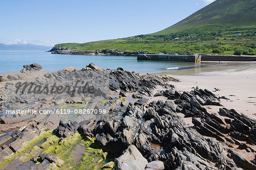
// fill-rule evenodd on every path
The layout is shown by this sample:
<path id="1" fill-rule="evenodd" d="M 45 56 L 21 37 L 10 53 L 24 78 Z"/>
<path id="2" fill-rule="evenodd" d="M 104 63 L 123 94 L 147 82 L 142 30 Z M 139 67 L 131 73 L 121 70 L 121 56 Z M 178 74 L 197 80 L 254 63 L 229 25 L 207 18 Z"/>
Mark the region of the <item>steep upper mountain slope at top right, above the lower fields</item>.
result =
<path id="1" fill-rule="evenodd" d="M 255 11 L 255 0 L 217 0 L 173 26 L 153 35 L 255 27 Z"/>

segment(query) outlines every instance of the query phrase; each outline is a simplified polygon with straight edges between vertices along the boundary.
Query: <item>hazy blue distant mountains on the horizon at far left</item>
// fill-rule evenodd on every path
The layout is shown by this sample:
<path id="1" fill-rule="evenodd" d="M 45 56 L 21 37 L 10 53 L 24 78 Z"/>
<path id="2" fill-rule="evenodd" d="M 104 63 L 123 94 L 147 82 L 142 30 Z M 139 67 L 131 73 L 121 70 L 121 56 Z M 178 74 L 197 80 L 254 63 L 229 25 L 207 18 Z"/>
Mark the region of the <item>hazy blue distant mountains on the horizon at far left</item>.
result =
<path id="1" fill-rule="evenodd" d="M 52 47 L 44 46 L 44 45 L 34 45 L 34 44 L 12 44 L 6 45 L 0 43 L 0 50 L 42 50 L 48 51 Z"/>

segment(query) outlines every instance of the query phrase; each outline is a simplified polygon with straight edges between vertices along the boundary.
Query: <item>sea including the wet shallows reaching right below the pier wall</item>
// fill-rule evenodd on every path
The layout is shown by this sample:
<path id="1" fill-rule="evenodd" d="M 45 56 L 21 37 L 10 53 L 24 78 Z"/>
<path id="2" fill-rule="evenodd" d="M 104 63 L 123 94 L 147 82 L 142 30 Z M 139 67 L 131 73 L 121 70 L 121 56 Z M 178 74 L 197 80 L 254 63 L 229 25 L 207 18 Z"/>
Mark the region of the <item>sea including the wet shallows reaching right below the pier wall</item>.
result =
<path id="1" fill-rule="evenodd" d="M 82 69 L 89 63 L 94 63 L 105 69 L 121 67 L 130 72 L 176 75 L 198 74 L 233 68 L 243 69 L 256 65 L 255 62 L 201 62 L 196 64 L 193 62 L 137 60 L 136 56 L 88 56 L 52 54 L 46 51 L 0 51 L 0 75 L 19 73 L 23 65 L 32 63 L 40 64 L 46 72 L 59 71 L 68 67 Z"/>

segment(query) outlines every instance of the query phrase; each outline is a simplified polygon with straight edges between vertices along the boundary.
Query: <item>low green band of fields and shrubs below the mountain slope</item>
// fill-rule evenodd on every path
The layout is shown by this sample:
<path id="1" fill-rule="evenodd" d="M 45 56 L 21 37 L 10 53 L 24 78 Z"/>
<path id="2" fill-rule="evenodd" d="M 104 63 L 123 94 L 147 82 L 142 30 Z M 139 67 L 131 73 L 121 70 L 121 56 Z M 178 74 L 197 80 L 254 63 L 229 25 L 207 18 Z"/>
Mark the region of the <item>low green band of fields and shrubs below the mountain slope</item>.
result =
<path id="1" fill-rule="evenodd" d="M 241 35 L 240 35 L 241 34 Z M 224 55 L 255 55 L 256 30 L 208 32 L 204 34 L 138 35 L 130 38 L 90 43 L 64 43 L 73 51 L 112 49 L 115 51 L 147 51 L 152 53 L 216 53 Z M 179 39 L 175 39 L 179 38 Z"/>

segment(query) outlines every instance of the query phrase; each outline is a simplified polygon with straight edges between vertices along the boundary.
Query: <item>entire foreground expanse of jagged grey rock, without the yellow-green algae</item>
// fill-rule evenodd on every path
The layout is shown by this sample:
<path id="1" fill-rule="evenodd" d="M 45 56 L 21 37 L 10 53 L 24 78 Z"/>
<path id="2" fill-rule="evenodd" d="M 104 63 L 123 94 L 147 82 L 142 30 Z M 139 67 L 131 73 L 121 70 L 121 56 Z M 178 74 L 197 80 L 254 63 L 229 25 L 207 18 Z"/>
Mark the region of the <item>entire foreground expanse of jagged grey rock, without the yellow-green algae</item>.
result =
<path id="1" fill-rule="evenodd" d="M 101 153 L 98 155 L 104 152 L 112 155 L 114 163 L 105 165 L 110 169 L 113 164 L 115 169 L 255 169 L 256 121 L 234 109 L 226 109 L 220 103 L 223 97 L 208 89 L 196 87 L 191 92 L 178 92 L 170 84 L 178 81 L 172 77 L 127 72 L 122 68 L 105 70 L 92 63 L 82 71 L 2 77 L 0 161 L 19 153 L 22 144 L 35 135 L 54 130 L 56 139 L 48 136 L 43 143 L 55 144 L 56 149 L 56 143 L 71 141 L 78 131 L 83 139 L 94 138 L 93 147 Z M 104 83 L 109 83 L 107 88 L 100 86 L 103 79 L 99 77 L 105 77 Z M 27 80 L 42 85 L 53 80 L 68 85 L 73 85 L 75 80 L 93 80 L 96 88 L 91 96 L 15 94 L 15 83 Z M 164 90 L 153 93 L 159 86 Z M 163 100 L 156 99 L 158 97 Z M 62 110 L 108 108 L 108 114 L 104 118 L 93 114 L 72 117 L 65 114 L 3 114 L 7 109 L 53 110 L 60 106 Z M 208 106 L 219 107 L 219 110 L 210 113 Z M 184 123 L 180 115 L 191 118 L 193 126 Z M 65 145 L 68 144 L 76 146 L 72 142 Z M 27 153 L 31 159 L 18 157 L 5 165 L 6 169 L 10 165 L 13 169 L 47 169 L 65 164 L 65 160 L 56 155 L 42 154 L 44 145 L 39 146 L 31 146 L 36 151 Z"/>

